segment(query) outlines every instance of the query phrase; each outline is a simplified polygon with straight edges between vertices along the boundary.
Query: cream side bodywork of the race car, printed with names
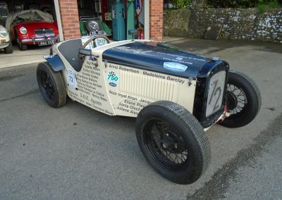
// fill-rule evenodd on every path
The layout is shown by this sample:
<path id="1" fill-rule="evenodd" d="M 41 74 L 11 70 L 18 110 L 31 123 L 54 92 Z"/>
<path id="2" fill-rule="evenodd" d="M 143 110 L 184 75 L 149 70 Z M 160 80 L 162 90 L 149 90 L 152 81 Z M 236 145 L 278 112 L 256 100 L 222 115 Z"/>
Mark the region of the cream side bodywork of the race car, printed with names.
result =
<path id="1" fill-rule="evenodd" d="M 92 55 L 99 56 L 97 61 L 86 56 L 80 72 L 60 56 L 66 67 L 62 75 L 68 96 L 108 115 L 136 117 L 142 108 L 161 100 L 176 102 L 192 113 L 196 80 L 102 61 L 106 49 L 130 42 L 112 42 L 92 49 Z"/>

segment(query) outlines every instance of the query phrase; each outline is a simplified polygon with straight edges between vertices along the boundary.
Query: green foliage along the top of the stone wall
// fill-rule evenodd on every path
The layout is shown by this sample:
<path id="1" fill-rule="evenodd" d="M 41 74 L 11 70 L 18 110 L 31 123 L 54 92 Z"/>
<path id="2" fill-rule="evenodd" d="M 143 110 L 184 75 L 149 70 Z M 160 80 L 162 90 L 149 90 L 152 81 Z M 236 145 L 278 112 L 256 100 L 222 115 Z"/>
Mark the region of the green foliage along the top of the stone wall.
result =
<path id="1" fill-rule="evenodd" d="M 214 8 L 253 8 L 258 7 L 259 11 L 266 11 L 266 8 L 278 8 L 281 0 L 208 0 L 207 4 Z"/>

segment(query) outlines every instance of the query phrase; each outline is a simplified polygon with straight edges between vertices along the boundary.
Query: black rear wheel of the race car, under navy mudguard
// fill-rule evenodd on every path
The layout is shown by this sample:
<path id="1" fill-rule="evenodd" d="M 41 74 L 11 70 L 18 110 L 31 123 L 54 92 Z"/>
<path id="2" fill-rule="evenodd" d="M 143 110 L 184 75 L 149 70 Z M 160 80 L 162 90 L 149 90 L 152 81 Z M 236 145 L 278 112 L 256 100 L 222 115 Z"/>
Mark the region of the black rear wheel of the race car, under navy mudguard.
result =
<path id="1" fill-rule="evenodd" d="M 49 63 L 37 66 L 37 83 L 44 100 L 54 108 L 66 104 L 66 88 L 61 73 L 54 72 Z"/>

